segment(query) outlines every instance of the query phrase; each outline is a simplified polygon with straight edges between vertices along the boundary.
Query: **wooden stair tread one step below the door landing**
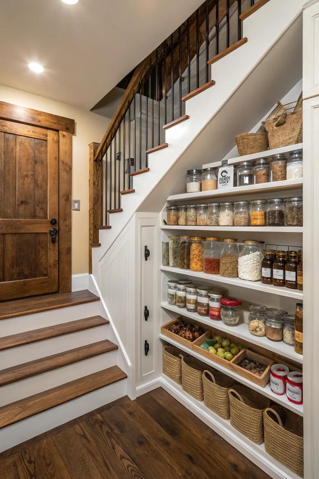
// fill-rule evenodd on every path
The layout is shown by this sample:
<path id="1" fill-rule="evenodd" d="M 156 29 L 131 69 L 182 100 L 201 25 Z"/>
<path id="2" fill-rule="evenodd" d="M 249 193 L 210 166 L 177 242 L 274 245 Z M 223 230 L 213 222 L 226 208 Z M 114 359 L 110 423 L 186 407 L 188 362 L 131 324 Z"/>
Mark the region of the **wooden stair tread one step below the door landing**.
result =
<path id="1" fill-rule="evenodd" d="M 76 321 L 68 321 L 66 323 L 54 324 L 32 331 L 20 332 L 10 336 L 0 338 L 0 351 L 5 349 L 16 348 L 22 344 L 31 344 L 32 342 L 44 341 L 50 338 L 57 338 L 77 331 L 84 331 L 97 326 L 109 324 L 108 319 L 101 316 L 92 316 L 90 318 L 77 319 Z"/>

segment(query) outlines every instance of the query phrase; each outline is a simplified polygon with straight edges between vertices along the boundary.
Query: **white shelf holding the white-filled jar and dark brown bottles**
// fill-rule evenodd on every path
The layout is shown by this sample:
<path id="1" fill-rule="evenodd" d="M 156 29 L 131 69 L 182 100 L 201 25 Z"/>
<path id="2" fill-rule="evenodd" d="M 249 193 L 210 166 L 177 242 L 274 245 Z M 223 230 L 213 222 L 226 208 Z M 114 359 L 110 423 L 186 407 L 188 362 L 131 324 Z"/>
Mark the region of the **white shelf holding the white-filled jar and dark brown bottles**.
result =
<path id="1" fill-rule="evenodd" d="M 241 286 L 247 289 L 254 289 L 257 291 L 264 291 L 272 295 L 285 296 L 290 298 L 298 299 L 302 301 L 303 293 L 297 289 L 289 289 L 286 287 L 273 286 L 273 285 L 264 285 L 261 281 L 246 281 L 240 278 L 227 278 L 220 276 L 219 274 L 207 274 L 202 271 L 191 271 L 187 269 L 172 268 L 170 266 L 160 266 L 161 271 L 169 271 L 171 273 L 183 274 L 183 276 L 193 276 L 200 279 L 205 279 L 206 281 L 213 281 L 216 283 L 225 283 L 227 285 Z"/>

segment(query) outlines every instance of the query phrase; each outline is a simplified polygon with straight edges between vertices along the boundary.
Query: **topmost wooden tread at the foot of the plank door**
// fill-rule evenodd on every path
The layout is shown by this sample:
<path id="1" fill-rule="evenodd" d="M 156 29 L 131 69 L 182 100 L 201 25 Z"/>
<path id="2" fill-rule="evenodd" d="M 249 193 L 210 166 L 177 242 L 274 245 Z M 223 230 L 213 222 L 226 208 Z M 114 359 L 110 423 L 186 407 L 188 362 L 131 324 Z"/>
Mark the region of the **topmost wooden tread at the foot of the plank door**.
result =
<path id="1" fill-rule="evenodd" d="M 40 313 L 50 309 L 66 308 L 77 304 L 99 301 L 99 297 L 84 289 L 70 293 L 55 293 L 0 302 L 0 319 L 15 318 L 26 314 Z"/>

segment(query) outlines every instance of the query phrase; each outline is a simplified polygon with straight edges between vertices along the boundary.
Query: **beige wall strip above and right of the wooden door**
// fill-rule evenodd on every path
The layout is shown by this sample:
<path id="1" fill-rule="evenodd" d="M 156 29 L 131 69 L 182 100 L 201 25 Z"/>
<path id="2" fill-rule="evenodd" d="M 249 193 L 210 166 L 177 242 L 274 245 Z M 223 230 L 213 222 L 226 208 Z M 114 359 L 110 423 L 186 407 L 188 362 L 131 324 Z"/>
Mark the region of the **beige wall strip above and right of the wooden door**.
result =
<path id="1" fill-rule="evenodd" d="M 72 274 L 88 273 L 88 144 L 101 141 L 110 120 L 66 103 L 0 85 L 0 101 L 75 120 L 72 137 L 72 198 L 80 211 L 72 211 Z"/>

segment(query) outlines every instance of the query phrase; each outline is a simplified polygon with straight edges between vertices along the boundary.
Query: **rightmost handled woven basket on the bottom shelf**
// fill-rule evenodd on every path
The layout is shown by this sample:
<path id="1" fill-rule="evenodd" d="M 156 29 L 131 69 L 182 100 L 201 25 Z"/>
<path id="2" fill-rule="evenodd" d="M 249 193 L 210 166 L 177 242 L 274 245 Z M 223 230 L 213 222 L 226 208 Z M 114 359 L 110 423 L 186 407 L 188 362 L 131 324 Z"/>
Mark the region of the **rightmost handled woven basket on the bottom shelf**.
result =
<path id="1" fill-rule="evenodd" d="M 303 419 L 279 404 L 264 410 L 265 451 L 304 477 Z"/>

